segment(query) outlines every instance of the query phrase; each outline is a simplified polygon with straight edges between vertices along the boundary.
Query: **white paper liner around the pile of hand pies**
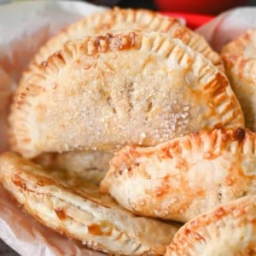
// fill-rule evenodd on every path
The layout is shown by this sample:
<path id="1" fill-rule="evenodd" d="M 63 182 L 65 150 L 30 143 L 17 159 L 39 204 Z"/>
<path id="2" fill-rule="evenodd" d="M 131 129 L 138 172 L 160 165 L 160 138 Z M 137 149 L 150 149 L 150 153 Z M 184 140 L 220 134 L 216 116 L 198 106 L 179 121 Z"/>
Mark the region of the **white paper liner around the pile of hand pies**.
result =
<path id="1" fill-rule="evenodd" d="M 9 96 L 20 73 L 47 38 L 74 20 L 102 11 L 89 3 L 27 2 L 0 6 L 0 153 L 8 148 Z M 214 49 L 256 26 L 256 9 L 234 9 L 197 31 Z M 102 255 L 39 224 L 0 185 L 0 238 L 20 255 Z"/>

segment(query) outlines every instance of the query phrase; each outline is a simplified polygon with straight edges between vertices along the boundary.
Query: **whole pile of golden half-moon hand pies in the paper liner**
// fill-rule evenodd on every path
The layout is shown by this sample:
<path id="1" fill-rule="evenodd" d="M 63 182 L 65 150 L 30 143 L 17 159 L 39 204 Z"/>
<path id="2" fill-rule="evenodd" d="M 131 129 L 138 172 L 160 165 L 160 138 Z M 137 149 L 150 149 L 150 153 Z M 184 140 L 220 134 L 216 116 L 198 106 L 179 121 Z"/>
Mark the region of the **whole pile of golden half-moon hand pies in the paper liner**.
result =
<path id="1" fill-rule="evenodd" d="M 3 186 L 102 252 L 256 255 L 254 38 L 224 46 L 222 61 L 148 10 L 67 27 L 15 91 Z"/>

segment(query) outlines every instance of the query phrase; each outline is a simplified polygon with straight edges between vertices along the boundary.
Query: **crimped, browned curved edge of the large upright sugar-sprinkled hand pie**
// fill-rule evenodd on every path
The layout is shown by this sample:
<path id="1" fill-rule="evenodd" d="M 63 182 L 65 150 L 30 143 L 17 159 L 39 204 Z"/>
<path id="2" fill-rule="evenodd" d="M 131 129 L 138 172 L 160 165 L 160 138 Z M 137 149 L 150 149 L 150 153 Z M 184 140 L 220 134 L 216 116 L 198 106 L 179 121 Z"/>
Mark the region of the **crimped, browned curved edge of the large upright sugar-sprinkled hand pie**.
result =
<path id="1" fill-rule="evenodd" d="M 160 46 L 154 49 L 154 41 L 157 42 L 161 38 Z M 168 46 L 164 42 L 170 45 L 171 49 L 168 49 Z M 102 43 L 104 46 L 102 47 Z M 159 44 L 156 43 L 156 44 Z M 41 87 L 39 84 L 42 83 L 44 79 L 47 79 L 51 73 L 58 73 L 59 68 L 67 63 L 67 61 L 73 60 L 73 56 L 77 55 L 78 52 L 84 55 L 95 55 L 97 53 L 108 53 L 109 51 L 119 51 L 119 50 L 128 50 L 128 49 L 147 49 L 150 47 L 151 51 L 155 51 L 161 55 L 167 55 L 170 57 L 172 55 L 172 50 L 175 47 L 179 47 L 185 53 L 195 54 L 196 59 L 199 63 L 201 61 L 205 62 L 204 64 L 211 65 L 211 62 L 205 59 L 202 55 L 196 54 L 189 47 L 182 44 L 178 39 L 169 39 L 166 38 L 164 34 L 158 32 L 139 32 L 139 31 L 128 31 L 128 32 L 115 32 L 107 33 L 105 35 L 99 34 L 93 37 L 86 37 L 83 40 L 76 40 L 66 44 L 62 50 L 56 52 L 54 55 L 49 56 L 47 61 L 44 61 L 39 67 L 36 68 L 37 73 L 29 79 L 29 83 L 26 89 L 20 92 L 20 101 L 17 102 L 14 108 L 12 108 L 12 113 L 9 118 L 9 123 L 14 123 L 11 125 L 9 132 L 9 142 L 13 150 L 16 152 L 22 153 L 26 157 L 34 157 L 38 153 L 29 152 L 27 146 L 24 148 L 22 145 L 29 145 L 31 143 L 31 138 L 29 137 L 29 131 L 26 127 L 27 113 L 29 113 L 32 106 L 32 98 L 43 93 L 47 88 Z M 169 52 L 166 52 L 168 50 Z M 179 61 L 182 61 L 180 59 Z M 198 63 L 198 64 L 199 64 Z M 196 67 L 197 68 L 197 67 Z M 227 128 L 231 128 L 234 125 L 236 127 L 244 126 L 244 119 L 241 112 L 241 107 L 239 102 L 236 99 L 233 91 L 230 89 L 230 84 L 223 73 L 218 71 L 217 67 L 212 66 L 211 72 L 202 67 L 201 69 L 196 69 L 195 73 L 200 80 L 206 80 L 209 78 L 210 82 L 205 84 L 204 88 L 201 90 L 205 91 L 207 94 L 212 95 L 212 100 L 209 102 L 210 108 L 214 109 L 220 116 L 219 125 Z M 35 84 L 36 82 L 36 84 Z M 235 108 L 234 108 L 235 107 Z M 14 131 L 12 128 L 19 124 L 20 128 L 18 131 Z M 215 124 L 216 127 L 219 126 Z M 17 143 L 20 143 L 17 146 Z M 67 148 L 68 150 L 73 150 L 75 148 Z M 89 148 L 87 148 L 89 149 Z"/>

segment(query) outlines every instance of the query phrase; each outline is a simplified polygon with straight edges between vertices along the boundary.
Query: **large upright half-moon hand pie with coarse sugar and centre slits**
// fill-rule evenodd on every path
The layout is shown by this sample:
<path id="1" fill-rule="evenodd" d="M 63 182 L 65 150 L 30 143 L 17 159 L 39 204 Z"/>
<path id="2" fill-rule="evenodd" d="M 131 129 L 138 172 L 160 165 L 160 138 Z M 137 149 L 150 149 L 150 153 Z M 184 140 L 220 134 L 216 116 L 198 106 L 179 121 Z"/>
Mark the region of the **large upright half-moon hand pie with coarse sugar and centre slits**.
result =
<path id="1" fill-rule="evenodd" d="M 20 92 L 10 145 L 27 158 L 152 146 L 212 127 L 243 127 L 223 73 L 178 39 L 116 32 L 66 44 Z"/>

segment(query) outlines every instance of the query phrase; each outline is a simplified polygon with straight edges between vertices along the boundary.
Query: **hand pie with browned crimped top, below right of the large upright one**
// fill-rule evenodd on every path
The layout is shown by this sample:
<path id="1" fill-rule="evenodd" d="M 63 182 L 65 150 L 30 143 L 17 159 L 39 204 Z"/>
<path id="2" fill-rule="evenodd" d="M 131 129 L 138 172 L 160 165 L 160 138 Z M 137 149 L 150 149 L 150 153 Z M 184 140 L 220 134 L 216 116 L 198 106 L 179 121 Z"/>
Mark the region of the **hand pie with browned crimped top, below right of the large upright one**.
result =
<path id="1" fill-rule="evenodd" d="M 200 131 L 152 148 L 126 146 L 110 160 L 102 192 L 131 212 L 186 222 L 256 195 L 256 135 Z"/>

